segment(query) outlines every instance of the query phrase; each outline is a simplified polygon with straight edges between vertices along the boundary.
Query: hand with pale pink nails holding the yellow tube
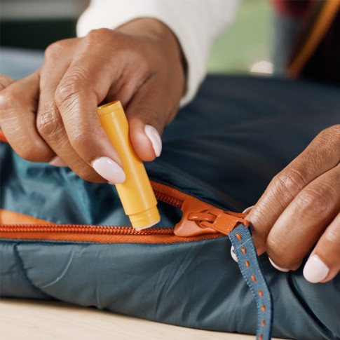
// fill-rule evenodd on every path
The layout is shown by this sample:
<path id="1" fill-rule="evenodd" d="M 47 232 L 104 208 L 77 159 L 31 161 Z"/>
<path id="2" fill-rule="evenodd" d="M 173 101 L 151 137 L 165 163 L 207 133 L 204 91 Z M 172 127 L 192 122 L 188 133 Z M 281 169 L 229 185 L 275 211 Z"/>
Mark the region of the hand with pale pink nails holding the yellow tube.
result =
<path id="1" fill-rule="evenodd" d="M 97 105 L 112 100 L 125 108 L 142 161 L 159 156 L 159 135 L 177 113 L 185 83 L 182 51 L 168 27 L 138 19 L 58 41 L 45 55 L 25 79 L 1 77 L 1 129 L 22 158 L 62 161 L 93 182 L 104 182 L 97 172 L 123 182 L 121 160 L 97 117 Z"/>

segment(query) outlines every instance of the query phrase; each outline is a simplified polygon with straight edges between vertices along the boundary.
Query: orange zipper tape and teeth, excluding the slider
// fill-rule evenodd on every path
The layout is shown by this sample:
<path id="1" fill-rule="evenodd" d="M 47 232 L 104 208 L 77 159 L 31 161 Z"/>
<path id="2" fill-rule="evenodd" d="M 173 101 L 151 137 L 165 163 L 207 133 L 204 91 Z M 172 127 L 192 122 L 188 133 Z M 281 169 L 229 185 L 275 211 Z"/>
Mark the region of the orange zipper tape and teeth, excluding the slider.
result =
<path id="1" fill-rule="evenodd" d="M 184 200 L 198 201 L 197 198 L 189 196 L 187 193 L 174 189 L 170 186 L 158 182 L 152 182 L 158 196 L 163 196 L 161 200 L 177 206 L 182 205 Z M 202 202 L 203 203 L 203 202 Z M 203 203 L 205 208 L 214 208 L 208 203 Z M 222 210 L 221 210 L 222 211 Z M 235 214 L 238 216 L 238 214 Z M 140 233 L 118 233 L 109 228 L 100 226 L 72 226 L 53 224 L 43 219 L 23 215 L 18 212 L 0 210 L 0 238 L 21 239 L 21 240 L 55 240 L 69 242 L 91 242 L 91 243 L 186 243 L 200 240 L 210 240 L 220 238 L 221 233 L 203 235 L 177 236 L 172 231 L 141 231 Z"/>

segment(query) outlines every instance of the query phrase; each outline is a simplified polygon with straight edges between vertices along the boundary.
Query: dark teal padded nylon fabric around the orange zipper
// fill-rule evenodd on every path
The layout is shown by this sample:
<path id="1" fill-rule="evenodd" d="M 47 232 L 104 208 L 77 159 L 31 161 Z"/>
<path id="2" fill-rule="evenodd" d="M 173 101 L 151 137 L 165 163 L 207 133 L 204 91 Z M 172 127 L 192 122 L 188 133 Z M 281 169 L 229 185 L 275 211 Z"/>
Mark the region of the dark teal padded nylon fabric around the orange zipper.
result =
<path id="1" fill-rule="evenodd" d="M 10 75 L 10 74 L 9 74 Z M 316 83 L 209 76 L 163 135 L 152 179 L 225 210 L 252 205 L 320 130 L 339 123 L 340 90 Z M 57 223 L 128 224 L 114 186 L 23 161 L 1 144 L 1 208 Z M 161 226 L 177 208 L 159 206 Z M 1 295 L 60 299 L 174 325 L 254 334 L 257 308 L 227 237 L 172 245 L 1 240 Z M 273 336 L 340 339 L 340 276 L 308 283 L 261 256 Z"/>

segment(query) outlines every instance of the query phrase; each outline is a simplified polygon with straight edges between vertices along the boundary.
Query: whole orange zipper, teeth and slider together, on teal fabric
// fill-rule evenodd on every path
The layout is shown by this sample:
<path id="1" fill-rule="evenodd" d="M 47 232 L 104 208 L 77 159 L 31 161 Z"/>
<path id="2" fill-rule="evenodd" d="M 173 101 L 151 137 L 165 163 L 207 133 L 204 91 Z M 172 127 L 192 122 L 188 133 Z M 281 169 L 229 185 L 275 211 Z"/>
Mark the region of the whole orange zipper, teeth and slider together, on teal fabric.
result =
<path id="1" fill-rule="evenodd" d="M 240 223 L 248 224 L 243 214 L 224 212 L 165 184 L 154 181 L 151 184 L 158 200 L 181 208 L 182 219 L 174 228 L 153 227 L 136 231 L 132 226 L 53 224 L 39 219 L 34 219 L 33 223 L 22 224 L 17 220 L 14 224 L 8 224 L 6 218 L 2 218 L 0 238 L 94 243 L 178 243 L 219 238 L 228 235 Z"/>

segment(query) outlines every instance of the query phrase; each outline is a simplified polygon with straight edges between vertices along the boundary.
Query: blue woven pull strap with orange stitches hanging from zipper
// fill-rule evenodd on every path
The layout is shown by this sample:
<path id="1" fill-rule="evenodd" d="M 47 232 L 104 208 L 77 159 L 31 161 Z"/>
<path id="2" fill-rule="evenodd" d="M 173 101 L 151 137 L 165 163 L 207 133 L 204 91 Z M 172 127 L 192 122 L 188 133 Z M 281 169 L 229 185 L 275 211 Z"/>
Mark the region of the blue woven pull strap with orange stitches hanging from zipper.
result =
<path id="1" fill-rule="evenodd" d="M 238 259 L 238 266 L 254 294 L 257 306 L 257 340 L 271 339 L 273 305 L 271 292 L 261 271 L 257 252 L 252 242 L 250 227 L 240 224 L 229 233 L 229 239 Z"/>

